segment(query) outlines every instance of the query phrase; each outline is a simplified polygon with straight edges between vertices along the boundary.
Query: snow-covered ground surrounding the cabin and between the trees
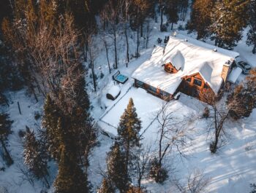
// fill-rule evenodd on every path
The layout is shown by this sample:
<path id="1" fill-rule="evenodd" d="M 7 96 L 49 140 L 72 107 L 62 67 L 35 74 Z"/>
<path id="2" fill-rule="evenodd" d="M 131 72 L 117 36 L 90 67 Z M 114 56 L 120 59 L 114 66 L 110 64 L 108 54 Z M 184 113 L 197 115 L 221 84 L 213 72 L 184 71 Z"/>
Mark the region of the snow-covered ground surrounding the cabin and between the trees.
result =
<path id="1" fill-rule="evenodd" d="M 177 29 L 178 25 L 184 25 L 185 22 L 179 22 L 174 27 Z M 91 82 L 91 71 L 86 76 L 86 82 L 88 82 L 87 91 L 89 92 L 91 99 L 91 114 L 93 115 L 99 126 L 108 133 L 116 134 L 116 126 L 118 125 L 119 118 L 126 108 L 129 98 L 133 98 L 135 107 L 138 111 L 138 116 L 142 120 L 143 125 L 143 144 L 150 143 L 155 145 L 157 139 L 157 123 L 152 122 L 157 110 L 161 107 L 162 101 L 153 95 L 148 94 L 145 90 L 132 87 L 132 73 L 140 64 L 148 60 L 151 56 L 151 52 L 154 49 L 154 44 L 157 44 L 157 38 L 165 39 L 165 36 L 170 35 L 168 32 L 159 32 L 159 23 L 151 21 L 151 36 L 148 42 L 148 48 L 143 47 L 141 44 L 140 58 L 133 58 L 128 64 L 128 68 L 125 65 L 125 44 L 124 37 L 118 36 L 118 70 L 121 74 L 129 77 L 128 82 L 125 84 L 118 84 L 121 89 L 121 95 L 118 96 L 116 101 L 121 98 L 118 103 L 116 101 L 108 100 L 105 95 L 108 90 L 113 87 L 112 75 L 116 71 L 108 72 L 107 59 L 105 56 L 105 50 L 102 46 L 102 40 L 100 35 L 95 37 L 95 44 L 97 47 L 98 57 L 95 60 L 95 71 L 98 77 L 100 74 L 104 74 L 97 79 L 97 92 L 93 91 Z M 247 29 L 246 29 L 247 30 Z M 246 30 L 244 31 L 244 39 L 238 42 L 238 46 L 235 47 L 235 51 L 239 52 L 252 66 L 256 66 L 256 55 L 252 55 L 252 47 L 248 47 L 245 44 Z M 187 34 L 187 31 L 178 31 L 181 34 Z M 188 36 L 195 37 L 194 34 Z M 130 41 L 130 53 L 135 53 L 135 32 L 129 34 Z M 142 40 L 143 42 L 143 40 Z M 213 44 L 210 40 L 206 41 L 209 44 Z M 163 45 L 163 44 L 162 44 Z M 113 47 L 111 47 L 113 50 Z M 110 50 L 110 63 L 113 64 L 113 52 Z M 239 77 L 240 81 L 244 79 L 244 75 Z M 127 90 L 132 87 L 128 92 Z M 123 97 L 124 96 L 124 97 Z M 23 146 L 22 139 L 18 135 L 19 130 L 24 130 L 25 126 L 29 126 L 35 131 L 40 127 L 40 119 L 34 119 L 34 113 L 39 111 L 42 114 L 42 99 L 39 103 L 36 103 L 33 98 L 26 95 L 24 90 L 18 92 L 9 92 L 7 98 L 12 101 L 10 107 L 1 109 L 10 114 L 12 119 L 13 133 L 10 135 L 9 141 L 10 153 L 14 159 L 14 165 L 10 168 L 6 168 L 5 171 L 0 171 L 0 186 L 4 186 L 8 189 L 9 193 L 30 193 L 40 192 L 42 189 L 42 183 L 34 181 L 34 185 L 29 184 L 20 173 L 20 167 L 23 168 Z M 18 112 L 17 101 L 20 102 L 21 112 Z M 113 104 L 116 103 L 115 106 Z M 211 124 L 211 119 L 200 119 L 204 107 L 204 103 L 197 101 L 195 98 L 191 98 L 187 95 L 181 95 L 178 101 L 170 102 L 170 111 L 173 111 L 176 117 L 192 117 L 187 120 L 187 124 L 192 124 L 194 129 L 191 131 L 192 146 L 186 149 L 188 159 L 173 158 L 171 163 L 176 167 L 175 173 L 169 173 L 170 179 L 173 176 L 176 178 L 186 178 L 190 171 L 198 168 L 203 170 L 203 173 L 211 178 L 211 182 L 208 186 L 207 192 L 218 193 L 245 193 L 249 192 L 249 184 L 256 182 L 256 110 L 254 110 L 249 118 L 242 119 L 240 121 L 228 121 L 225 124 L 225 130 L 229 134 L 225 146 L 219 149 L 217 154 L 211 154 L 208 147 L 211 141 L 211 135 L 208 135 L 208 127 Z M 113 106 L 113 108 L 112 108 Z M 108 114 L 105 114 L 108 111 Z M 111 127 L 104 122 L 108 122 Z M 151 124 L 152 122 L 152 124 Z M 150 125 L 151 124 L 151 125 Z M 148 127 L 148 125 L 150 125 Z M 148 127 L 148 128 L 147 128 Z M 145 131 L 145 129 L 147 130 Z M 145 132 L 143 132 L 145 131 Z M 105 135 L 99 135 L 99 146 L 94 148 L 91 155 L 91 166 L 89 167 L 89 181 L 94 186 L 94 192 L 96 192 L 97 186 L 99 186 L 102 176 L 102 171 L 105 171 L 105 157 L 113 141 Z M 0 159 L 2 162 L 2 160 Z M 0 164 L 1 166 L 1 164 Z M 49 181 L 53 181 L 56 176 L 56 165 L 50 163 L 50 178 Z M 163 185 L 154 183 L 153 181 L 145 180 L 143 185 L 147 187 L 151 192 L 175 192 L 173 189 L 172 181 L 165 182 Z"/>

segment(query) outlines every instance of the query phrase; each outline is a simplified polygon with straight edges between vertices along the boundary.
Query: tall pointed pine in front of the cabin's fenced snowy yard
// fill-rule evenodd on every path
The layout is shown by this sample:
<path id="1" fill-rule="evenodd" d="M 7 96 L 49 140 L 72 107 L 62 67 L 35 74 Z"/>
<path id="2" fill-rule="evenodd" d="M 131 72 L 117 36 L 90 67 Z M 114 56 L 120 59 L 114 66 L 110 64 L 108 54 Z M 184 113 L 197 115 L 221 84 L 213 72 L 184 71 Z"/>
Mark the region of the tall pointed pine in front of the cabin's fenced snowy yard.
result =
<path id="1" fill-rule="evenodd" d="M 124 110 L 124 114 L 121 116 L 117 129 L 119 142 L 125 151 L 124 175 L 126 175 L 127 178 L 129 177 L 129 162 L 132 161 L 131 151 L 135 147 L 140 146 L 140 129 L 141 122 L 136 113 L 132 98 L 130 98 L 127 109 Z"/>

